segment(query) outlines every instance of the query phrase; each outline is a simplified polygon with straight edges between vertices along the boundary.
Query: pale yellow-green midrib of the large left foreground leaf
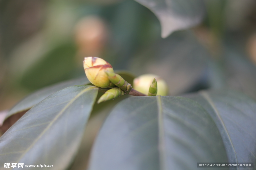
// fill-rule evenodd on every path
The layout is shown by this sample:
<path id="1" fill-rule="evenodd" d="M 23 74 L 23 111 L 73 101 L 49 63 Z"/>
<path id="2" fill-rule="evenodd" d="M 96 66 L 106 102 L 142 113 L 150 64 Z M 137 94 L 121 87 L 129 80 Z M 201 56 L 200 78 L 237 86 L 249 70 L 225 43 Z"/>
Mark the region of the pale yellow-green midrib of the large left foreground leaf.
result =
<path id="1" fill-rule="evenodd" d="M 82 90 L 79 94 L 77 94 L 72 100 L 70 100 L 67 105 L 55 116 L 55 118 L 49 123 L 49 125 L 44 129 L 44 131 L 36 138 L 36 140 L 30 145 L 28 149 L 25 150 L 25 152 L 19 157 L 18 161 L 19 162 L 22 157 L 35 145 L 35 143 L 45 134 L 45 132 L 51 127 L 51 125 L 58 119 L 58 117 L 78 98 L 80 97 L 83 93 L 85 93 L 87 90 L 95 88 L 95 86 L 88 87 L 84 90 Z M 41 103 L 41 102 L 40 102 Z"/>

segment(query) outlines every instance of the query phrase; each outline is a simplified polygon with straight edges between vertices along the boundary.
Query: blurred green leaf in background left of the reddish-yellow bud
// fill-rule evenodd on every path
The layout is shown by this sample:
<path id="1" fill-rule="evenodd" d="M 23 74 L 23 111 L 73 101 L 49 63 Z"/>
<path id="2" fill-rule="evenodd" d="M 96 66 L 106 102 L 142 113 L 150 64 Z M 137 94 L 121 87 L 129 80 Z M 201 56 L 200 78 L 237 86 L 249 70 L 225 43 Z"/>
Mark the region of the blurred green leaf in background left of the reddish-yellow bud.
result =
<path id="1" fill-rule="evenodd" d="M 72 78 L 75 65 L 74 44 L 62 44 L 30 66 L 21 78 L 21 84 L 31 90 Z"/>

